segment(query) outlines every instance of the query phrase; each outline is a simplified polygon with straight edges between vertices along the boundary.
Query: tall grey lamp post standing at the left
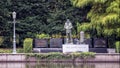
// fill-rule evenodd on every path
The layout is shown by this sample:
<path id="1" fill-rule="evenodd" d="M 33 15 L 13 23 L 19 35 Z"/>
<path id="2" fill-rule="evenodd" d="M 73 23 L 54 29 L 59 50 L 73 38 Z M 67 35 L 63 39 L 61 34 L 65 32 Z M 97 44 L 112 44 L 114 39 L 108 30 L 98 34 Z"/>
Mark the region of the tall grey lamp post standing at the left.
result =
<path id="1" fill-rule="evenodd" d="M 16 54 L 16 36 L 15 36 L 16 12 L 13 12 L 12 16 L 13 16 L 13 54 Z"/>

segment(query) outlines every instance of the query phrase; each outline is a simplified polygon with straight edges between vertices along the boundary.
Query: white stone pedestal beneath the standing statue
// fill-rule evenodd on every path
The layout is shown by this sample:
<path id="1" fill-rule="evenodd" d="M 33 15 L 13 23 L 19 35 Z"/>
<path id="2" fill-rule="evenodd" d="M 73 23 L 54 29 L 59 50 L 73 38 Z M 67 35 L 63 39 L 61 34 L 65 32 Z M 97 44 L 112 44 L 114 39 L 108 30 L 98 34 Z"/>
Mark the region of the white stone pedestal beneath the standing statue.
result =
<path id="1" fill-rule="evenodd" d="M 87 44 L 63 44 L 63 53 L 69 52 L 88 52 L 89 46 Z"/>

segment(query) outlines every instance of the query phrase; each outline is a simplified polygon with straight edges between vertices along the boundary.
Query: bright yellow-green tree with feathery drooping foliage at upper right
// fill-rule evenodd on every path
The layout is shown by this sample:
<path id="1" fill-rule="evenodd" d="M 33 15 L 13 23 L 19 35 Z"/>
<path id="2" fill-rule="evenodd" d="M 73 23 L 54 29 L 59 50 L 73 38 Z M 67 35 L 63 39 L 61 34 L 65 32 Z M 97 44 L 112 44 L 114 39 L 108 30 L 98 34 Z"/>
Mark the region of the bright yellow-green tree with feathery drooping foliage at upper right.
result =
<path id="1" fill-rule="evenodd" d="M 90 22 L 83 23 L 80 30 L 96 30 L 98 36 L 120 37 L 119 0 L 72 0 L 76 7 L 91 6 L 87 14 Z"/>

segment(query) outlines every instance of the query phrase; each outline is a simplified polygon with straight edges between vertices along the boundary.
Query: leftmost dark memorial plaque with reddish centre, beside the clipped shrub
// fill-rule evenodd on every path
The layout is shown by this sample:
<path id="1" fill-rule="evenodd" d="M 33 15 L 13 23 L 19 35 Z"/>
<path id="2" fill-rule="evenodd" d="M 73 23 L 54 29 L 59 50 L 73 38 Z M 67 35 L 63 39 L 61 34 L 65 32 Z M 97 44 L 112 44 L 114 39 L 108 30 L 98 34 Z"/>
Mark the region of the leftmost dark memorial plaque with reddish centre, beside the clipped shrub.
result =
<path id="1" fill-rule="evenodd" d="M 48 47 L 48 43 L 46 39 L 35 39 L 34 40 L 35 48 L 46 48 Z"/>

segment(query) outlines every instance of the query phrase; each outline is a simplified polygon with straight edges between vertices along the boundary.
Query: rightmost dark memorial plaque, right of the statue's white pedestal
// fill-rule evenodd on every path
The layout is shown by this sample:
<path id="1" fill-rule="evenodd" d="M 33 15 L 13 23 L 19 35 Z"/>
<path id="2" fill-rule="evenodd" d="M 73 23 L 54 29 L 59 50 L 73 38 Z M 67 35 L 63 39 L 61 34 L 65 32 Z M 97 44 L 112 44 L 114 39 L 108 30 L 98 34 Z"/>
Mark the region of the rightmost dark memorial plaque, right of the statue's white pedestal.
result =
<path id="1" fill-rule="evenodd" d="M 107 47 L 106 40 L 103 38 L 95 38 L 94 47 Z"/>

